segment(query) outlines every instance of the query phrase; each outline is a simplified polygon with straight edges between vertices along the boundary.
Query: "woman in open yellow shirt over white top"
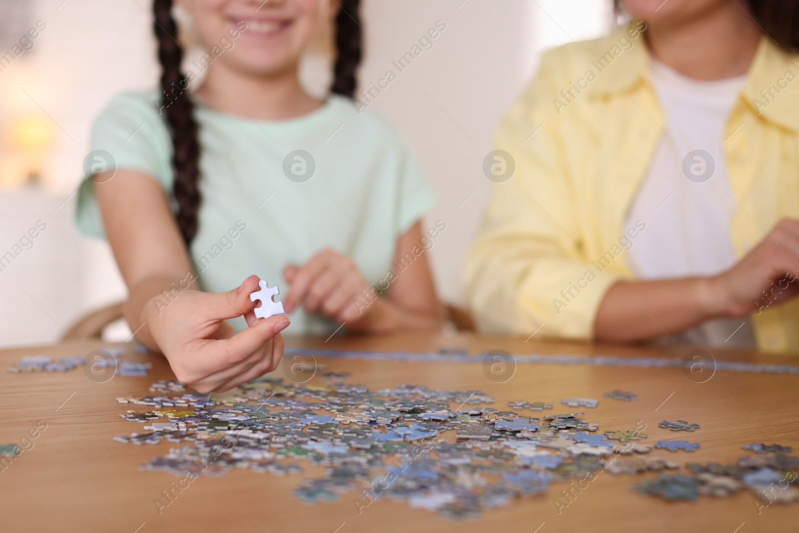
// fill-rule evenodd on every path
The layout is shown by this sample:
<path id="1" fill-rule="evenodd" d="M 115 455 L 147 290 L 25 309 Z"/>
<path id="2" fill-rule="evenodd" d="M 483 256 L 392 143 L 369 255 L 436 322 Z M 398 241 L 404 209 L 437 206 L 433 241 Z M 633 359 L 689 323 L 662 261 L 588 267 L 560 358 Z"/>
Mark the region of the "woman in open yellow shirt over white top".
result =
<path id="1" fill-rule="evenodd" d="M 516 172 L 467 259 L 478 321 L 799 351 L 799 7 L 622 3 L 497 133 Z"/>

